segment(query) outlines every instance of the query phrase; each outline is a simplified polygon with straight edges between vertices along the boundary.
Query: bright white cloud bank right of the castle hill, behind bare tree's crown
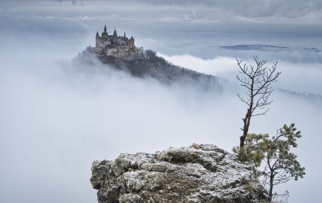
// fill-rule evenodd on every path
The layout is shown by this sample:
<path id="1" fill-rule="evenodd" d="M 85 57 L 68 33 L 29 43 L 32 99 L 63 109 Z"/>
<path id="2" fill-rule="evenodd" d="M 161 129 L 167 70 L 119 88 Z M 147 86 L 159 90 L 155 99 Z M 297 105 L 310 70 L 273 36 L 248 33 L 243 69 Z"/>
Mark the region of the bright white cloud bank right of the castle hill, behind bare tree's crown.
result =
<path id="1" fill-rule="evenodd" d="M 278 48 L 277 48 L 278 49 Z M 279 48 L 280 49 L 280 48 Z M 221 49 L 219 49 L 221 50 Z M 243 63 L 254 64 L 251 53 L 257 53 L 260 59 L 268 60 L 267 66 L 270 66 L 272 62 L 279 61 L 277 64 L 277 70 L 282 74 L 279 77 L 279 83 L 276 84 L 277 88 L 292 90 L 296 92 L 311 92 L 322 95 L 322 61 L 306 61 L 304 57 L 307 54 L 321 55 L 321 51 L 307 51 L 297 50 L 294 55 L 292 49 L 289 51 L 279 51 L 278 56 L 274 54 L 276 48 L 265 49 L 264 51 L 243 51 L 244 55 L 239 55 L 242 51 L 235 50 L 232 52 L 239 59 L 243 59 Z M 220 51 L 218 51 L 220 52 Z M 246 53 L 249 53 L 248 55 Z M 171 61 L 173 64 L 180 65 L 186 68 L 190 68 L 199 72 L 217 75 L 220 77 L 228 78 L 230 82 L 236 82 L 236 59 L 234 55 L 228 54 L 226 56 L 217 56 L 212 59 L 202 59 L 193 55 L 164 55 L 159 53 L 166 60 Z M 294 57 L 303 57 L 301 61 L 293 60 Z M 274 84 L 275 85 L 275 84 Z"/>

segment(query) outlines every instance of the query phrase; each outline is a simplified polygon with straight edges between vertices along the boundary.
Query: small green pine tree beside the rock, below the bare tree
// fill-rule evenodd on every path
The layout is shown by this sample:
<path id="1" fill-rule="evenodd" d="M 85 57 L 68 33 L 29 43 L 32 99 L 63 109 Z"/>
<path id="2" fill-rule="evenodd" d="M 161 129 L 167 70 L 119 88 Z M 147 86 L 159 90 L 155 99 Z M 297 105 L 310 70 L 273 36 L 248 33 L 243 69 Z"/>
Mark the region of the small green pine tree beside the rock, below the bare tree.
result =
<path id="1" fill-rule="evenodd" d="M 297 181 L 306 174 L 297 156 L 290 152 L 291 147 L 298 146 L 297 139 L 302 137 L 301 131 L 296 130 L 292 123 L 290 126 L 284 124 L 271 138 L 268 134 L 248 134 L 245 146 L 233 149 L 240 160 L 254 166 L 255 175 L 263 182 L 270 199 L 276 196 L 273 194 L 275 185 L 293 178 Z M 264 169 L 260 167 L 262 163 L 265 164 Z"/>

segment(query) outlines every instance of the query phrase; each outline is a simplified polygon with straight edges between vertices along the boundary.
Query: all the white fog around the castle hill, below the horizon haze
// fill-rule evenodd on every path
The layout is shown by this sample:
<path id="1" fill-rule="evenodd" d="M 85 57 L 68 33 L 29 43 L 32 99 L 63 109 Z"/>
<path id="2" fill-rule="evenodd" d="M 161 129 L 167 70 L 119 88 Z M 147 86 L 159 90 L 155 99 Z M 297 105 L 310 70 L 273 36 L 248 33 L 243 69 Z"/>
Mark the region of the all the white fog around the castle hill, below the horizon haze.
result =
<path id="1" fill-rule="evenodd" d="M 14 33 L 1 36 L 7 47 L 0 56 L 1 202 L 95 202 L 89 181 L 94 160 L 192 143 L 212 143 L 227 151 L 238 145 L 246 107 L 235 94 L 242 90 L 200 92 L 134 78 L 95 57 L 81 63 L 75 56 L 85 42 L 76 39 L 68 44 L 30 34 L 17 43 Z M 159 54 L 236 82 L 231 56 Z M 245 61 L 252 62 L 251 57 Z M 282 75 L 274 87 L 321 94 L 316 87 L 321 87 L 321 63 L 280 61 L 277 68 Z M 300 83 L 301 78 L 306 82 Z M 250 131 L 274 134 L 284 123 L 295 122 L 303 135 L 295 152 L 307 171 L 304 179 L 276 189 L 288 189 L 291 202 L 318 201 L 321 162 L 314 158 L 321 154 L 321 102 L 278 91 L 272 99 L 268 114 L 254 118 Z"/>

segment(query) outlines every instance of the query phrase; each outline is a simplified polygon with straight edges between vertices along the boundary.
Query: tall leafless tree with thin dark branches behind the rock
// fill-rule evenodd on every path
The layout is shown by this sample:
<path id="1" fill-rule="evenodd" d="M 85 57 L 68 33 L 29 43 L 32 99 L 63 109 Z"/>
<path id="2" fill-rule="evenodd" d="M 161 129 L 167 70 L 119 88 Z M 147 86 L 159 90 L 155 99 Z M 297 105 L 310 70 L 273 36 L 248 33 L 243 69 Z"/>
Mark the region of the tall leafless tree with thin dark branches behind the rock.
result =
<path id="1" fill-rule="evenodd" d="M 276 63 L 268 68 L 265 66 L 266 60 L 259 60 L 257 56 L 254 56 L 256 65 L 246 65 L 242 66 L 242 60 L 237 60 L 237 65 L 239 66 L 239 72 L 243 77 L 236 78 L 241 82 L 241 86 L 246 88 L 246 96 L 240 96 L 237 94 L 240 101 L 247 104 L 247 112 L 245 118 L 243 119 L 244 126 L 241 128 L 243 135 L 240 137 L 239 147 L 245 145 L 245 139 L 248 134 L 248 129 L 250 125 L 251 118 L 257 115 L 265 115 L 269 108 L 265 109 L 272 101 L 268 99 L 269 95 L 272 93 L 271 83 L 277 81 L 277 77 L 281 72 L 276 72 Z M 258 113 L 254 113 L 256 109 L 262 109 Z"/>

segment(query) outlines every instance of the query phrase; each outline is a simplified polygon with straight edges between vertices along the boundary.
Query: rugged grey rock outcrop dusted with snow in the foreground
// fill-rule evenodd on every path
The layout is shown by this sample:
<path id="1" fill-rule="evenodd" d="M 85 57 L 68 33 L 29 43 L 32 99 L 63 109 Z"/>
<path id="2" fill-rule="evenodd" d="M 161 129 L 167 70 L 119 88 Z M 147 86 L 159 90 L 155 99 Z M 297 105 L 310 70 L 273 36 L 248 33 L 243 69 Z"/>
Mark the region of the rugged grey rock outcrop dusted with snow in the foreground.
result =
<path id="1" fill-rule="evenodd" d="M 94 161 L 99 203 L 266 203 L 249 165 L 215 145 L 193 144 L 152 154 Z"/>

